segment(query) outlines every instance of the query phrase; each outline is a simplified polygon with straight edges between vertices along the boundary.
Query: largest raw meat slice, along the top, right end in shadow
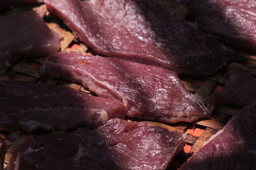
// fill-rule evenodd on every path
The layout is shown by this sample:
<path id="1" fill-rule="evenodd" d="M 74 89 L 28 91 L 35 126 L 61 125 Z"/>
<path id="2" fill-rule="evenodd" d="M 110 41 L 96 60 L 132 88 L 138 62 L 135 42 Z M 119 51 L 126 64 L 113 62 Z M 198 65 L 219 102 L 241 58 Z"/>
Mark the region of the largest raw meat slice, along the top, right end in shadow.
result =
<path id="1" fill-rule="evenodd" d="M 221 43 L 142 0 L 45 0 L 76 38 L 100 55 L 163 66 L 195 76 L 218 71 L 232 58 Z"/>

